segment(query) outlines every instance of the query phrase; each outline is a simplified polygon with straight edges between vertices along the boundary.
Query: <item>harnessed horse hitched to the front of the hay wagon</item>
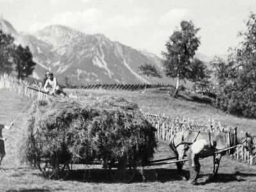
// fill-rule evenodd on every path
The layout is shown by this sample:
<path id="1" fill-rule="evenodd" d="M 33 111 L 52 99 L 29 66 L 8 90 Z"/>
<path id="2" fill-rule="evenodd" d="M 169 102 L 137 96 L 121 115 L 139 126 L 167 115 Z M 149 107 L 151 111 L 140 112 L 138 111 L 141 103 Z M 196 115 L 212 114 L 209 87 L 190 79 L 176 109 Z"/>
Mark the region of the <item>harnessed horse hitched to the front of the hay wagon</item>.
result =
<path id="1" fill-rule="evenodd" d="M 228 154 L 234 154 L 236 145 L 243 145 L 244 148 L 250 152 L 250 154 L 256 153 L 256 150 L 253 147 L 253 136 L 251 136 L 248 132 L 237 135 L 236 128 L 229 129 L 228 131 L 222 130 L 216 132 L 200 132 L 192 130 L 177 132 L 170 138 L 169 146 L 177 156 L 177 160 L 182 160 L 186 155 L 186 151 L 188 150 L 189 145 L 200 139 L 204 139 L 209 142 L 211 142 L 211 140 L 216 141 L 216 147 L 214 150 L 209 148 L 209 150 L 204 150 L 200 154 L 201 158 L 213 156 L 212 178 L 217 177 L 221 157 L 224 156 L 227 152 Z M 226 148 L 232 149 L 225 150 Z M 215 152 L 217 152 L 217 154 Z M 178 174 L 184 179 L 184 174 L 182 172 L 183 164 L 184 162 L 176 163 Z"/>

